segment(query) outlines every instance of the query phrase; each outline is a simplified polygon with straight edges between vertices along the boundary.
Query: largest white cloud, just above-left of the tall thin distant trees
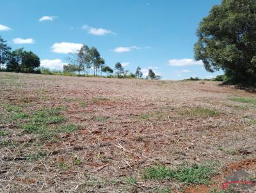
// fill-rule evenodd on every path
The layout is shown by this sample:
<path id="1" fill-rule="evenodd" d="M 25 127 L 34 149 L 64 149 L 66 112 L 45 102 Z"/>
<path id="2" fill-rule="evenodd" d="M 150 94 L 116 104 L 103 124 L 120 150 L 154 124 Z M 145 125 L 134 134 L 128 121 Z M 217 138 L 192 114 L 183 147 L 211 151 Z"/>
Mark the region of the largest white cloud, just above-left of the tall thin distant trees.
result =
<path id="1" fill-rule="evenodd" d="M 77 52 L 81 49 L 83 44 L 81 43 L 71 43 L 71 42 L 61 42 L 54 43 L 51 47 L 52 52 L 60 53 L 60 54 L 68 54 L 72 52 Z"/>

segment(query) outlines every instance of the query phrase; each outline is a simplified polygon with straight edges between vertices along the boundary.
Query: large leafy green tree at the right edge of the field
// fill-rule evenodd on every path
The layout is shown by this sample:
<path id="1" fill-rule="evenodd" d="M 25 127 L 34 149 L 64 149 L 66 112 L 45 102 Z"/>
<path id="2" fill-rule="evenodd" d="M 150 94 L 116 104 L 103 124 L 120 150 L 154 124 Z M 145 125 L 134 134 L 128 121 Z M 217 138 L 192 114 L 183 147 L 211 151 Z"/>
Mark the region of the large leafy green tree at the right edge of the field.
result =
<path id="1" fill-rule="evenodd" d="M 196 32 L 195 59 L 209 72 L 224 70 L 227 82 L 255 86 L 256 0 L 223 0 Z"/>

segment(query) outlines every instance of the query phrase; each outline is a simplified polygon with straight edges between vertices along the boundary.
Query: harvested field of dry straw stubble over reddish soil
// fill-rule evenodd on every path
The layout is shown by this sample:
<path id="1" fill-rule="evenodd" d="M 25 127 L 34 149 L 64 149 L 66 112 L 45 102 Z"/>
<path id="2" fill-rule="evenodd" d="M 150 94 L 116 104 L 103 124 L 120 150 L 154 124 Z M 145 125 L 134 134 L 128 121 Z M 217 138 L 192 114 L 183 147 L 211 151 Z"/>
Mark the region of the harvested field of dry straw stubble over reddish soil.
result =
<path id="1" fill-rule="evenodd" d="M 255 94 L 203 83 L 1 72 L 0 192 L 219 192 L 237 169 L 255 180 Z M 205 181 L 180 169 L 197 166 Z"/>

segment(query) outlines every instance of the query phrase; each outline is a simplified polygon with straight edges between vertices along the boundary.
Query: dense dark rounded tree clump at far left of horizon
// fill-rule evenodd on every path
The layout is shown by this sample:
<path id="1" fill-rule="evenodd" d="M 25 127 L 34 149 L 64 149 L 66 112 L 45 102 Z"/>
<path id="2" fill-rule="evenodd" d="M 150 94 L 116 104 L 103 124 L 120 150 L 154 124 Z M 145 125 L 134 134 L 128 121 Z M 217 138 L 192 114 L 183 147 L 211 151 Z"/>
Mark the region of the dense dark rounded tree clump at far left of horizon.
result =
<path id="1" fill-rule="evenodd" d="M 8 72 L 34 73 L 40 66 L 40 58 L 33 52 L 25 51 L 23 48 L 11 52 L 10 59 L 6 65 Z"/>

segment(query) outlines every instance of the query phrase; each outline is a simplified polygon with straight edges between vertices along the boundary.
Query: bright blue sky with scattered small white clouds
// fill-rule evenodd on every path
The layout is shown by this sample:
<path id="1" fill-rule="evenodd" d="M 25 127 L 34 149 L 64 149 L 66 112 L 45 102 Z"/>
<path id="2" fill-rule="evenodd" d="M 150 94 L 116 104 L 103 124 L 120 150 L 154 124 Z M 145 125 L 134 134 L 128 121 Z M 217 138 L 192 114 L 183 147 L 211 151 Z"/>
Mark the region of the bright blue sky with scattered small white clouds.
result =
<path id="1" fill-rule="evenodd" d="M 35 52 L 61 68 L 70 50 L 95 46 L 106 64 L 163 79 L 214 77 L 194 61 L 196 28 L 220 0 L 1 0 L 0 35 L 13 49 Z"/>

